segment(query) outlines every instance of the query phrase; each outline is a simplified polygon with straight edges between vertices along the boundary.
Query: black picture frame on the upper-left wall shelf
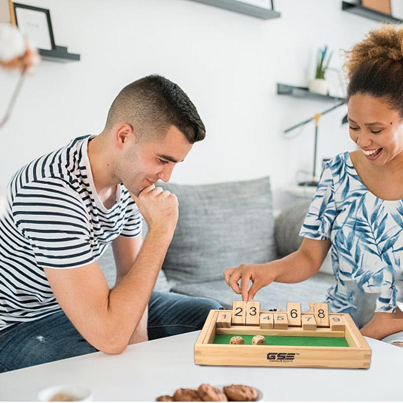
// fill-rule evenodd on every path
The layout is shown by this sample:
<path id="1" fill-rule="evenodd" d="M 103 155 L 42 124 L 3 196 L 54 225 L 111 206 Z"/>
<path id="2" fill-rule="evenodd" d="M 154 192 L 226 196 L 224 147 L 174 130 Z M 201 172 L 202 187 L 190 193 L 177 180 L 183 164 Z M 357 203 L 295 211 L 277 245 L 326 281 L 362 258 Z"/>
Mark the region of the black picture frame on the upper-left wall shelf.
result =
<path id="1" fill-rule="evenodd" d="M 14 2 L 13 8 L 16 25 L 24 35 L 27 35 L 34 42 L 39 50 L 56 49 L 48 9 Z"/>

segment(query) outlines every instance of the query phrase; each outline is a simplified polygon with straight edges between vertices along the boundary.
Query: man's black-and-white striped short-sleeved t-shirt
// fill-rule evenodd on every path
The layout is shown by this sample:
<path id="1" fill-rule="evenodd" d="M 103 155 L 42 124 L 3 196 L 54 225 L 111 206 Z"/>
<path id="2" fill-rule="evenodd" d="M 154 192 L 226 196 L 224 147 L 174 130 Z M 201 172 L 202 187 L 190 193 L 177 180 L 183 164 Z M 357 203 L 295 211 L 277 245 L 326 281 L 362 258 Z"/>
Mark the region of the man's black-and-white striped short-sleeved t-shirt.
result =
<path id="1" fill-rule="evenodd" d="M 32 161 L 9 183 L 0 217 L 0 333 L 60 309 L 44 267 L 89 264 L 116 237 L 142 232 L 140 211 L 122 184 L 116 204 L 103 206 L 87 154 L 91 139 Z"/>

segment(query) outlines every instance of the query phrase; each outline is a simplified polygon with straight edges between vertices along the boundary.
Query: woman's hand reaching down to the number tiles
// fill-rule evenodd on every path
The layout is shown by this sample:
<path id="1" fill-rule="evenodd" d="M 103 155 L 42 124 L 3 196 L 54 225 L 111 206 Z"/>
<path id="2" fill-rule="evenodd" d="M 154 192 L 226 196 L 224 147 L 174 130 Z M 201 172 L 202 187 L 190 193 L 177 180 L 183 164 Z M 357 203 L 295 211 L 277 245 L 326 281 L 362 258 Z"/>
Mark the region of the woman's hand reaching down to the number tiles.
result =
<path id="1" fill-rule="evenodd" d="M 257 291 L 272 283 L 277 276 L 271 263 L 265 264 L 241 264 L 234 268 L 229 267 L 224 272 L 224 279 L 237 294 L 242 294 L 243 301 L 253 300 Z M 239 285 L 238 281 L 241 280 Z M 252 286 L 248 290 L 249 281 Z"/>

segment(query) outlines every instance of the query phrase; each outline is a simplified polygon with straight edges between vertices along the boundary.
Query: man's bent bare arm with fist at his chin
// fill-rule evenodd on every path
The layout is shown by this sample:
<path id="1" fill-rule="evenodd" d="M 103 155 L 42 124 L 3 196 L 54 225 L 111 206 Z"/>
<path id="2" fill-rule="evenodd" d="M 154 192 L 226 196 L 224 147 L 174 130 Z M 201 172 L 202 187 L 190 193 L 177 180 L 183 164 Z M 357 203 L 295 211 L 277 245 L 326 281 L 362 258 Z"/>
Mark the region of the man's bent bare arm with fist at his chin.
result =
<path id="1" fill-rule="evenodd" d="M 142 320 L 178 219 L 175 195 L 160 187 L 144 189 L 136 203 L 149 232 L 123 279 L 109 291 L 96 262 L 45 274 L 61 308 L 96 349 L 119 354 Z"/>

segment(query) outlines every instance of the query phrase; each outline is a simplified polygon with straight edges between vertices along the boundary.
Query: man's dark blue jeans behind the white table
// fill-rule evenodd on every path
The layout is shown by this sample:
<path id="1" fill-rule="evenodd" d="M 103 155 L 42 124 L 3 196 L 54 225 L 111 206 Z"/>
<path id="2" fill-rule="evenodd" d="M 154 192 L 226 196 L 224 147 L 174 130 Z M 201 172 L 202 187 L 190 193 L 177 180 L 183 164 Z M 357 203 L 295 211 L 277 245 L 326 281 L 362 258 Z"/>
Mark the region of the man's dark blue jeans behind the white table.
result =
<path id="1" fill-rule="evenodd" d="M 207 298 L 154 292 L 148 311 L 149 339 L 199 330 L 218 302 Z M 0 372 L 98 351 L 77 331 L 63 311 L 0 331 Z"/>

